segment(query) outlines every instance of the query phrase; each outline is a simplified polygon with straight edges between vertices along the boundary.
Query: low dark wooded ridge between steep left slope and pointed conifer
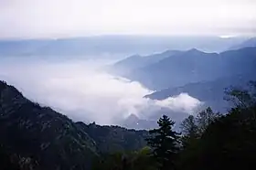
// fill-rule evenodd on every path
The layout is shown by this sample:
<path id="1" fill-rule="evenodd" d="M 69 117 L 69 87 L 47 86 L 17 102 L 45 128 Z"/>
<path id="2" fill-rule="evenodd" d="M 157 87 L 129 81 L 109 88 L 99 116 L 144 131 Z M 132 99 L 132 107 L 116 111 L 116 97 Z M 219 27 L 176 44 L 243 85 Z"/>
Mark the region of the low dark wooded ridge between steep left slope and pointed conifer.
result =
<path id="1" fill-rule="evenodd" d="M 94 123 L 76 124 L 97 143 L 96 148 L 100 153 L 134 150 L 146 145 L 144 139 L 148 136 L 147 131 L 127 130 L 119 126 L 100 126 Z"/>

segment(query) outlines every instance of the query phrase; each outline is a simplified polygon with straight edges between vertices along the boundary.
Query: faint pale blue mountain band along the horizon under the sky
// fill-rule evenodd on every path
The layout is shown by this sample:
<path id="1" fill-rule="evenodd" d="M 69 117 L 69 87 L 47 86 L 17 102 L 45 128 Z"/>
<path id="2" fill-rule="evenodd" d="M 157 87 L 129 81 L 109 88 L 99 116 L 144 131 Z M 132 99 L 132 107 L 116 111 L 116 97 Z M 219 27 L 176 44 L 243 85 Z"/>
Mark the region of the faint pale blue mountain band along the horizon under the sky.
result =
<path id="1" fill-rule="evenodd" d="M 222 51 L 244 37 L 95 36 L 57 39 L 0 40 L 0 56 L 71 57 L 110 54 L 152 54 L 165 49 Z M 94 56 L 95 58 L 95 56 Z"/>

